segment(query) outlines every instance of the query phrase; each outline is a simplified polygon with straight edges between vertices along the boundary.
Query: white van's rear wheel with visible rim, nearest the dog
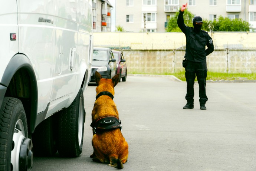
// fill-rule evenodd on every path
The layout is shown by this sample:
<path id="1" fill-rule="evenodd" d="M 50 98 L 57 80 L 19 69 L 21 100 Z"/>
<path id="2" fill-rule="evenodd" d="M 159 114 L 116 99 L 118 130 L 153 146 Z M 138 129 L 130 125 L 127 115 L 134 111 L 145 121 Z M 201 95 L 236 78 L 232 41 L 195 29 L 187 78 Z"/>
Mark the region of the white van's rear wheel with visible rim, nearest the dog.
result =
<path id="1" fill-rule="evenodd" d="M 71 105 L 59 111 L 58 152 L 63 157 L 77 157 L 82 152 L 85 109 L 83 91 Z"/>

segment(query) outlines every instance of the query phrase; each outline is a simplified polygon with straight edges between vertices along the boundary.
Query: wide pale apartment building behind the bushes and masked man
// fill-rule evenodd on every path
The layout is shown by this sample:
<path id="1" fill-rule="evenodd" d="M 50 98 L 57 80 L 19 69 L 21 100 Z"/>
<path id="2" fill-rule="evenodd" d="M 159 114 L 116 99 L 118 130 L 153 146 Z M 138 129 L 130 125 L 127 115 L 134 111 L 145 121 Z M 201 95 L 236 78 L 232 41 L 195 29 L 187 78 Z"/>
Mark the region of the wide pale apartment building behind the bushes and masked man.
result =
<path id="1" fill-rule="evenodd" d="M 182 4 L 194 16 L 216 20 L 219 16 L 241 18 L 256 31 L 256 0 L 116 0 L 115 25 L 127 32 L 165 32 L 169 17 Z"/>

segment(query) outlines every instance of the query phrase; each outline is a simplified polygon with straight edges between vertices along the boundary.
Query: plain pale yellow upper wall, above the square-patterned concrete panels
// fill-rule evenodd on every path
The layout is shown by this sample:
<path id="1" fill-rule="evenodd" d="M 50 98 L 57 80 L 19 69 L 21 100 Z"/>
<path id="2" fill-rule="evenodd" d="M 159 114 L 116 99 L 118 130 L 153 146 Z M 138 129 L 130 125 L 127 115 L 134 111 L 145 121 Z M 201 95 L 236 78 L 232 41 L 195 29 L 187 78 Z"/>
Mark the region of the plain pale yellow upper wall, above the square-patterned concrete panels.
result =
<path id="1" fill-rule="evenodd" d="M 215 49 L 256 48 L 256 33 L 213 32 L 209 33 Z M 186 46 L 186 37 L 182 32 L 166 33 L 93 33 L 94 46 L 125 47 L 129 49 L 177 49 Z"/>

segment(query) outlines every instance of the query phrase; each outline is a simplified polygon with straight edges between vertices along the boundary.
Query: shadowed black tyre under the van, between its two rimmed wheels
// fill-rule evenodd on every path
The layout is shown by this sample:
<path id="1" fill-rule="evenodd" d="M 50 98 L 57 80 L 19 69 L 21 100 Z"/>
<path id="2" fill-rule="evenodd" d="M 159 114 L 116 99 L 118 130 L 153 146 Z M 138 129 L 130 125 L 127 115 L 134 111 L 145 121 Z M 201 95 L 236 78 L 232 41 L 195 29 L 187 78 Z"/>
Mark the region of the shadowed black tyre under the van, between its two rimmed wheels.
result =
<path id="1" fill-rule="evenodd" d="M 52 156 L 57 152 L 56 128 L 53 127 L 55 115 L 50 116 L 36 126 L 32 134 L 34 154 Z"/>

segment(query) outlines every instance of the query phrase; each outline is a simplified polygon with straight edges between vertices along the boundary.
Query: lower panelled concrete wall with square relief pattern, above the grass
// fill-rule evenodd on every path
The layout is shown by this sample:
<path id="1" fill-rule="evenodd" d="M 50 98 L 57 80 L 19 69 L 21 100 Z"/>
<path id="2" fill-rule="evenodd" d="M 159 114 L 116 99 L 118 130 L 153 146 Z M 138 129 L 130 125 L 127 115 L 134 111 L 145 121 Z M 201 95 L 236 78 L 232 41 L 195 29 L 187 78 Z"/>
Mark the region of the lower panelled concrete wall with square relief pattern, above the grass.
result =
<path id="1" fill-rule="evenodd" d="M 228 52 L 228 54 L 227 54 Z M 123 50 L 128 73 L 165 74 L 184 70 L 185 50 Z M 256 72 L 255 50 L 215 50 L 207 56 L 211 72 Z"/>

